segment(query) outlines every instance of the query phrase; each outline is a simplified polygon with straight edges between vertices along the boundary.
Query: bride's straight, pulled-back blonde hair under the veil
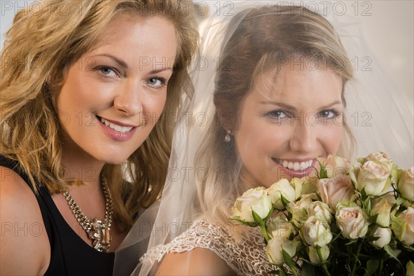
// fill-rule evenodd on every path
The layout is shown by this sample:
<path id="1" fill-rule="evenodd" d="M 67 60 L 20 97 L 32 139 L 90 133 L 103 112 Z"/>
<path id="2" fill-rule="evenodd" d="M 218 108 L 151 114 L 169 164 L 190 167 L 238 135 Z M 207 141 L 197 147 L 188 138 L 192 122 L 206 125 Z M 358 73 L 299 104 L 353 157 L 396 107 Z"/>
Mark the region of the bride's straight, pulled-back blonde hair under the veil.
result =
<path id="1" fill-rule="evenodd" d="M 286 59 L 311 59 L 331 68 L 342 78 L 342 101 L 353 67 L 333 26 L 322 15 L 299 6 L 262 6 L 237 14 L 229 30 L 239 23 L 221 53 L 221 65 L 215 80 L 215 118 L 205 143 L 197 153 L 196 168 L 208 168 L 205 181 L 197 181 L 199 212 L 212 221 L 226 224 L 230 206 L 248 188 L 239 175 L 234 139 L 226 143 L 226 130 L 235 130 L 240 108 L 255 79 L 272 72 Z M 263 80 L 262 78 L 260 79 Z M 269 80 L 269 85 L 274 85 Z M 353 150 L 354 138 L 344 125 L 344 137 L 338 155 Z M 258 137 L 259 139 L 259 137 Z M 237 231 L 236 231 L 237 233 Z"/>

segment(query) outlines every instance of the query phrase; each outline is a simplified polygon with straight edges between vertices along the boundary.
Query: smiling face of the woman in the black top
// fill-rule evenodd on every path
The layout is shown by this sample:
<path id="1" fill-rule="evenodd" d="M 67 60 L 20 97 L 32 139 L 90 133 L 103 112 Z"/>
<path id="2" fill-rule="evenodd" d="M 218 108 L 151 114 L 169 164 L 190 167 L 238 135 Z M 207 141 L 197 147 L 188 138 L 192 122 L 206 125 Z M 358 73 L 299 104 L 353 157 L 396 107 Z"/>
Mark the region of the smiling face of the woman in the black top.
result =
<path id="1" fill-rule="evenodd" d="M 115 17 L 70 66 L 57 96 L 63 150 L 109 164 L 126 160 L 161 116 L 176 52 L 170 21 Z"/>

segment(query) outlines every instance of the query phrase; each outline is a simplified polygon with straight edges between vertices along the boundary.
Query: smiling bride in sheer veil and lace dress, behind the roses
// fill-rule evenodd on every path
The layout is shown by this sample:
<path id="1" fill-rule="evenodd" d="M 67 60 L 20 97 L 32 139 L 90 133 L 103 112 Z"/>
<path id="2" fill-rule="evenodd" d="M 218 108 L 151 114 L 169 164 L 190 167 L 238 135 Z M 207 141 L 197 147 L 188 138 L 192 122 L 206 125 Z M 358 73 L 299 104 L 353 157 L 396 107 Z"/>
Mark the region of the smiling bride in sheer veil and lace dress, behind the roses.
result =
<path id="1" fill-rule="evenodd" d="M 184 101 L 190 119 L 177 128 L 161 204 L 127 237 L 141 249 L 150 237 L 137 275 L 277 270 L 259 230 L 228 219 L 233 202 L 248 188 L 312 176 L 317 158 L 355 157 L 351 128 L 358 154 L 383 150 L 393 157 L 404 150 L 412 159 L 412 116 L 375 84 L 377 71 L 354 70 L 345 46 L 355 50 L 355 38 L 304 7 L 254 6 L 239 7 L 230 20 L 211 19 L 202 33 L 196 61 L 204 67 L 195 62 L 196 93 Z M 371 115 L 370 125 L 354 124 L 358 111 Z M 391 131 L 380 128 L 402 116 Z M 144 233 L 144 217 L 155 214 Z"/>

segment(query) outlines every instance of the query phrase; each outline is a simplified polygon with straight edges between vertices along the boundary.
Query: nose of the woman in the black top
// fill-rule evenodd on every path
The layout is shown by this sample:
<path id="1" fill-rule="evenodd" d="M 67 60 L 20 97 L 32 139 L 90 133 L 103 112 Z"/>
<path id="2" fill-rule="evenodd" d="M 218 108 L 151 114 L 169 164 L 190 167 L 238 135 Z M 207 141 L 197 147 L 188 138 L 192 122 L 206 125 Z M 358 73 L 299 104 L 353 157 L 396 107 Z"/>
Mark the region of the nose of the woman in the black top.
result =
<path id="1" fill-rule="evenodd" d="M 135 81 L 129 81 L 119 87 L 115 99 L 114 106 L 117 110 L 130 117 L 142 112 L 143 91 L 139 88 L 139 84 Z"/>

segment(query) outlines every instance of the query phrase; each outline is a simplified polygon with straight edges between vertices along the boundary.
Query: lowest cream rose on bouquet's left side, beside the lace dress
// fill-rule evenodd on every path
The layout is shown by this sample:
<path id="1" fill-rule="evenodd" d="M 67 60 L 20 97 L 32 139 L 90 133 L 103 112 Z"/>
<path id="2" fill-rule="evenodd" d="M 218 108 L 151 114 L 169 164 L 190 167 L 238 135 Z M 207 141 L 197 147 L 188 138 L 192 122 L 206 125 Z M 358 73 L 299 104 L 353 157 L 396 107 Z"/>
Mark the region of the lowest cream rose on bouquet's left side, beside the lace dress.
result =
<path id="1" fill-rule="evenodd" d="M 280 266 L 284 264 L 282 249 L 288 253 L 290 257 L 295 256 L 298 243 L 292 242 L 285 237 L 273 237 L 266 246 L 266 255 L 272 264 Z"/>

